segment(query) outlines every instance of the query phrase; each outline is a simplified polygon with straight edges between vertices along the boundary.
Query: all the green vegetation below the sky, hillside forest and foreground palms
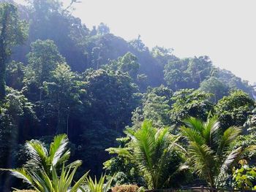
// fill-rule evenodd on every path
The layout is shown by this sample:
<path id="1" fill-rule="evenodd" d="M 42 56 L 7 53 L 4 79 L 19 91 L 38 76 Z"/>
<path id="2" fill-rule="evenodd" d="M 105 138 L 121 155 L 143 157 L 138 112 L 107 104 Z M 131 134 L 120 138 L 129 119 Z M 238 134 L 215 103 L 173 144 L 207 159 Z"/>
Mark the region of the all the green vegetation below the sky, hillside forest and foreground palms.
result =
<path id="1" fill-rule="evenodd" d="M 0 2 L 0 191 L 254 188 L 249 82 L 89 28 L 78 3 Z"/>

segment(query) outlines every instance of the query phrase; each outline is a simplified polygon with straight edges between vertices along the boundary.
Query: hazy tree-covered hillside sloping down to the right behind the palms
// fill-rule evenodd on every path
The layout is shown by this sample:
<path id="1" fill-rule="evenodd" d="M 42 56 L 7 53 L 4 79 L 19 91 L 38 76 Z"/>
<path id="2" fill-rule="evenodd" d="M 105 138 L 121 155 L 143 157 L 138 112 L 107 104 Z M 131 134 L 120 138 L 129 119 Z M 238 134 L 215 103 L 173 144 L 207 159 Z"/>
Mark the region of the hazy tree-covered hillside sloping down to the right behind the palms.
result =
<path id="1" fill-rule="evenodd" d="M 124 130 L 138 129 L 143 120 L 178 134 L 185 118 L 216 115 L 223 130 L 244 126 L 251 138 L 244 145 L 252 142 L 246 128 L 255 118 L 253 89 L 208 56 L 178 58 L 172 49 L 149 49 L 140 36 L 124 40 L 104 23 L 89 29 L 71 14 L 72 4 L 3 2 L 0 167 L 24 164 L 27 140 L 48 146 L 56 134 L 67 134 L 70 160 L 83 161 L 81 172 L 118 172 L 124 183 L 134 183 L 141 179 L 138 172 L 105 149 L 124 146 Z M 2 187 L 14 181 L 1 174 Z"/>

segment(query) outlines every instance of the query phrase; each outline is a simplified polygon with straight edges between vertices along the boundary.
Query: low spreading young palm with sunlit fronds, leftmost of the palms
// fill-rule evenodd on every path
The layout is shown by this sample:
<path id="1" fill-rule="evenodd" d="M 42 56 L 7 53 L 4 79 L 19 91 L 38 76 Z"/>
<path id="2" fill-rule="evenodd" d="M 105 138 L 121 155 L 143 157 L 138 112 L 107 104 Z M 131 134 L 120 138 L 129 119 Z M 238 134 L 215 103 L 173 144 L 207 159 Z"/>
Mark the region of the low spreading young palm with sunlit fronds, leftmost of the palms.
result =
<path id="1" fill-rule="evenodd" d="M 65 134 L 54 137 L 50 150 L 37 140 L 26 142 L 29 161 L 23 168 L 1 170 L 10 171 L 12 175 L 22 179 L 38 192 L 78 191 L 80 185 L 85 182 L 88 172 L 72 186 L 75 172 L 82 162 L 74 161 L 64 166 L 70 155 L 67 144 L 68 139 Z"/>

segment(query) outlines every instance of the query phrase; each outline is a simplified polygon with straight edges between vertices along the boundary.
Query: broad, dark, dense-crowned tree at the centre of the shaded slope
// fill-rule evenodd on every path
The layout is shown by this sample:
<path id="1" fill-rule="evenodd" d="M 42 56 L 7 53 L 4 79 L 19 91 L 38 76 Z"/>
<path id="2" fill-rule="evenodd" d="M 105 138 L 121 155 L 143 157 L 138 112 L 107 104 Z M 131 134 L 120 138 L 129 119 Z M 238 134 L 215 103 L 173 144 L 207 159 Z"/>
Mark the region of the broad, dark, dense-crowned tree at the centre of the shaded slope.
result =
<path id="1" fill-rule="evenodd" d="M 103 121 L 105 126 L 121 132 L 137 105 L 137 86 L 122 72 L 99 69 L 88 72 L 85 78 L 91 119 Z"/>

